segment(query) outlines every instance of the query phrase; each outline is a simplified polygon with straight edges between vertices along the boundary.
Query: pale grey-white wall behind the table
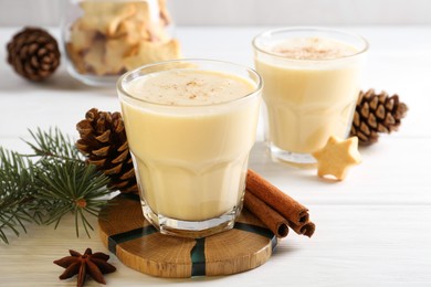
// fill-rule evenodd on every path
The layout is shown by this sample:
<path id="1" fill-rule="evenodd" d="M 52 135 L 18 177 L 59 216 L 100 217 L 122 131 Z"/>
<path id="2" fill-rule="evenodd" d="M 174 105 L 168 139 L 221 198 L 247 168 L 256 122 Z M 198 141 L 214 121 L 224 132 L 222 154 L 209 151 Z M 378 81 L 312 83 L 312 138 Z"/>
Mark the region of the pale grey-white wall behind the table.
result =
<path id="1" fill-rule="evenodd" d="M 0 0 L 0 25 L 56 25 L 65 0 Z M 178 25 L 431 24 L 429 0 L 167 0 Z"/>

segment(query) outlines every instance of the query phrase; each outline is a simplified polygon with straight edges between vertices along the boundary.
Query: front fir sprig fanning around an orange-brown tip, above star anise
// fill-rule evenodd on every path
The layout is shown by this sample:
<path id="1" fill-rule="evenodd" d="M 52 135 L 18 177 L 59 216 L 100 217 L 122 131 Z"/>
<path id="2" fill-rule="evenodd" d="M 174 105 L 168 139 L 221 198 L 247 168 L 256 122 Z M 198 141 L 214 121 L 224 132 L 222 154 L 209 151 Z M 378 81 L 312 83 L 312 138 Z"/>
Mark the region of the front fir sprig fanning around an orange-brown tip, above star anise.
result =
<path id="1" fill-rule="evenodd" d="M 103 198 L 111 193 L 106 188 L 109 179 L 96 167 L 84 162 L 45 159 L 39 164 L 41 168 L 35 174 L 36 198 L 50 202 L 44 223 L 55 223 L 56 228 L 65 214 L 73 213 L 76 236 L 80 236 L 82 225 L 90 237 L 88 228 L 94 228 L 86 215 L 97 216 L 98 210 L 106 204 Z"/>

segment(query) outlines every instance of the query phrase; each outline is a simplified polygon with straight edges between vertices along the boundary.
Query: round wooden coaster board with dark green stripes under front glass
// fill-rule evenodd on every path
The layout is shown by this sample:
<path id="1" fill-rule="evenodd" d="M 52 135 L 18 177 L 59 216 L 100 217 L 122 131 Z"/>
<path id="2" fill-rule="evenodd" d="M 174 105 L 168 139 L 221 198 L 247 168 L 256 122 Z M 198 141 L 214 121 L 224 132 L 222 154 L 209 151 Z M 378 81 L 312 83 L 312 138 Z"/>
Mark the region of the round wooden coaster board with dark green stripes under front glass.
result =
<path id="1" fill-rule="evenodd" d="M 125 265 L 141 273 L 185 278 L 229 275 L 264 264 L 277 244 L 261 221 L 243 210 L 234 227 L 204 238 L 160 234 L 144 219 L 136 194 L 119 194 L 98 219 L 101 238 Z"/>

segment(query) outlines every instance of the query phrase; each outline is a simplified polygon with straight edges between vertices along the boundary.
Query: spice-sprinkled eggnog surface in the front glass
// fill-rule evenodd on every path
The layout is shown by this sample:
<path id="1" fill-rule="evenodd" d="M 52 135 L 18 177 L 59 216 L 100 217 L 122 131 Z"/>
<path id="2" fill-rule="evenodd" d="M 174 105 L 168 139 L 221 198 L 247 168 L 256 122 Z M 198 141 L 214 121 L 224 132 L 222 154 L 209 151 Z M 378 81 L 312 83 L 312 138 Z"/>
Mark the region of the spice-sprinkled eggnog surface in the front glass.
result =
<path id="1" fill-rule="evenodd" d="M 127 92 L 146 102 L 200 106 L 230 102 L 254 91 L 245 78 L 212 71 L 172 70 L 132 81 Z"/>

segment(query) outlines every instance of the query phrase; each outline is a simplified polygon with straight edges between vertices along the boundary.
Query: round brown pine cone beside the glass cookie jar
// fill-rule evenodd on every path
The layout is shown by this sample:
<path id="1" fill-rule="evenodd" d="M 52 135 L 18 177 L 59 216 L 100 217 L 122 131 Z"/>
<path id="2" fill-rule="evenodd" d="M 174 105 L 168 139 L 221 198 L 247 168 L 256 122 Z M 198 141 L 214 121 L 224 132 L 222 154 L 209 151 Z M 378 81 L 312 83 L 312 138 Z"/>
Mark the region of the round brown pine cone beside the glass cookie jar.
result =
<path id="1" fill-rule="evenodd" d="M 8 43 L 8 62 L 30 81 L 49 77 L 60 65 L 59 44 L 46 31 L 24 28 Z"/>

